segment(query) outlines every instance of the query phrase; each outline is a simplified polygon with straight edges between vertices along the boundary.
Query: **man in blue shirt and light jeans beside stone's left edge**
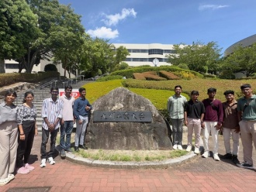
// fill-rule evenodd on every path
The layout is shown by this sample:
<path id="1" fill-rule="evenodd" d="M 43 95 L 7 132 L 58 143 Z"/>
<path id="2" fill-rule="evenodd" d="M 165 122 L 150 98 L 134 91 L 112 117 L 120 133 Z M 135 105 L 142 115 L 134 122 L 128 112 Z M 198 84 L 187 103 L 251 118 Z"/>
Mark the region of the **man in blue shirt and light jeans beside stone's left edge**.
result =
<path id="1" fill-rule="evenodd" d="M 88 149 L 85 145 L 85 131 L 88 125 L 88 114 L 92 110 L 92 105 L 85 98 L 86 90 L 84 87 L 79 88 L 80 97 L 74 101 L 74 117 L 77 122 L 77 129 L 74 138 L 74 151 L 81 149 Z"/>

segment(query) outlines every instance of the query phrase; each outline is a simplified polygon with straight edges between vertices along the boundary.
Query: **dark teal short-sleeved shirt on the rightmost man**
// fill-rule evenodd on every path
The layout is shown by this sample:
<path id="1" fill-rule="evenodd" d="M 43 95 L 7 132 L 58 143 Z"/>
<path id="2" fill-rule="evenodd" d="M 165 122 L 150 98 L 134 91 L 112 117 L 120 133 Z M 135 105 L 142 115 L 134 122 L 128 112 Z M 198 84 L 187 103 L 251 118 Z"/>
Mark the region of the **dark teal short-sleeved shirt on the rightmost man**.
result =
<path id="1" fill-rule="evenodd" d="M 240 98 L 237 101 L 237 111 L 243 112 L 242 120 L 256 121 L 256 95 L 253 94 L 251 98 L 248 99 Z"/>

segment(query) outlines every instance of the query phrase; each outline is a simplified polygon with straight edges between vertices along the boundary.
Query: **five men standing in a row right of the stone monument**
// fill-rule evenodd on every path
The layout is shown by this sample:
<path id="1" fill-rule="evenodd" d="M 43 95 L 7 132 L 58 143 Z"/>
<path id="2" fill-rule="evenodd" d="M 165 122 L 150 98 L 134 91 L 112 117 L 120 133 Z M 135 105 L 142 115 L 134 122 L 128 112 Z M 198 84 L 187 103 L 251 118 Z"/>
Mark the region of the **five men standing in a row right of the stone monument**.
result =
<path id="1" fill-rule="evenodd" d="M 221 102 L 215 98 L 216 88 L 207 90 L 208 98 L 198 100 L 199 91 L 192 91 L 190 100 L 182 96 L 182 86 L 175 86 L 175 94 L 168 98 L 167 109 L 171 118 L 173 149 L 182 150 L 183 124 L 188 128 L 188 143 L 186 151 L 192 150 L 192 134 L 195 132 L 194 153 L 199 154 L 200 133 L 202 129 L 202 140 L 204 153 L 202 157 L 207 158 L 209 153 L 209 135 L 213 139 L 213 159 L 220 161 L 232 159 L 240 167 L 253 169 L 253 143 L 256 148 L 256 95 L 253 94 L 250 84 L 243 84 L 240 90 L 244 97 L 238 101 L 235 93 L 227 90 L 223 94 L 226 101 Z M 218 135 L 223 133 L 226 154 L 218 154 Z M 233 140 L 233 149 L 230 146 L 230 136 Z M 244 162 L 238 160 L 239 139 L 243 144 Z"/>

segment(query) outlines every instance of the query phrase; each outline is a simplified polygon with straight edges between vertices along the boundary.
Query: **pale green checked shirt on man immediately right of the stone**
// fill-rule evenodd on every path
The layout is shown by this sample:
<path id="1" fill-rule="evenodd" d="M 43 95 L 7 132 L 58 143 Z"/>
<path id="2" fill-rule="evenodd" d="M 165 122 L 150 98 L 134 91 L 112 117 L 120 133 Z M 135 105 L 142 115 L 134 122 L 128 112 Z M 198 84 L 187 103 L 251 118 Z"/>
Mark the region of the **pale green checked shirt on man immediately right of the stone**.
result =
<path id="1" fill-rule="evenodd" d="M 185 107 L 186 101 L 187 99 L 182 95 L 180 95 L 179 97 L 177 97 L 176 95 L 173 95 L 170 98 L 168 98 L 167 110 L 171 118 L 174 118 L 174 119 L 184 118 L 184 107 Z"/>

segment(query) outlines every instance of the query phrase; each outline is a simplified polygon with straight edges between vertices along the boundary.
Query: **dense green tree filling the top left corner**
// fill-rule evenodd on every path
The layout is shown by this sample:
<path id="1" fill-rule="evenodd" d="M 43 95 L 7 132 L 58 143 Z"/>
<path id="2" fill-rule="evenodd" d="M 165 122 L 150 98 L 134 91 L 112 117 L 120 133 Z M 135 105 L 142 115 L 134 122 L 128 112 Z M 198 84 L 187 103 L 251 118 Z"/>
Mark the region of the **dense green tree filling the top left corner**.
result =
<path id="1" fill-rule="evenodd" d="M 22 57 L 36 36 L 36 25 L 37 17 L 25 0 L 0 1 L 0 60 Z"/>

